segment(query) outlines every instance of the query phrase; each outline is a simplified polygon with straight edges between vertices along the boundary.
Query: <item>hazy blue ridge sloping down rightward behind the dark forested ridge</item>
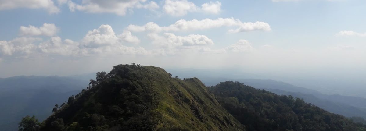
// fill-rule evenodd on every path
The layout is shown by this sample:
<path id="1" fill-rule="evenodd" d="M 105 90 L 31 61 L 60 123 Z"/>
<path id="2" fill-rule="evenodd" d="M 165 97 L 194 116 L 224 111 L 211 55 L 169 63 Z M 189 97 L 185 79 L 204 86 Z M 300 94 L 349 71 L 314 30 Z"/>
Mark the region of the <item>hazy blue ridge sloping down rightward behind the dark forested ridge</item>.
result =
<path id="1" fill-rule="evenodd" d="M 206 85 L 213 85 L 215 82 L 227 81 L 227 78 L 203 78 Z M 291 95 L 299 97 L 329 112 L 341 114 L 347 117 L 360 116 L 366 118 L 366 99 L 361 97 L 327 95 L 318 91 L 294 86 L 284 82 L 268 79 L 233 79 L 245 85 L 257 89 L 265 89 L 276 94 Z"/>

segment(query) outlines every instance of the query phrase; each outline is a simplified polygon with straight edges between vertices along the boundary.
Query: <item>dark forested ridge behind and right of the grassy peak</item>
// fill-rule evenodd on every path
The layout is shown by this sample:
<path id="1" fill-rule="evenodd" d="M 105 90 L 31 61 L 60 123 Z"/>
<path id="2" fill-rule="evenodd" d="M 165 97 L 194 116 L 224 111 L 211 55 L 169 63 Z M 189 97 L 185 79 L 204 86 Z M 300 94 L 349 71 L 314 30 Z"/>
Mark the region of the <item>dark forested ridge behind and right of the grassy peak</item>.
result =
<path id="1" fill-rule="evenodd" d="M 210 87 L 221 105 L 250 131 L 365 131 L 346 117 L 239 82 Z"/>

